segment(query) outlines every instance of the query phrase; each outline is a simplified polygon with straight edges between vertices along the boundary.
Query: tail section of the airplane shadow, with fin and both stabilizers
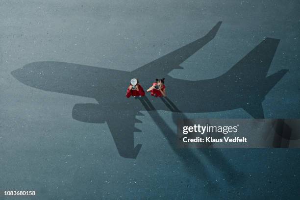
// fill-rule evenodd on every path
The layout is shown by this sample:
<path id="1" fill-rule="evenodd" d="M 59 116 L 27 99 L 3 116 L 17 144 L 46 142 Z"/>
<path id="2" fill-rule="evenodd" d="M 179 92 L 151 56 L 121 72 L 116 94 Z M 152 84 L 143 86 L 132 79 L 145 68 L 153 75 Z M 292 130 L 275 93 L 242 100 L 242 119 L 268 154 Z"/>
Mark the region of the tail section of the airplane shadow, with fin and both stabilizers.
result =
<path id="1" fill-rule="evenodd" d="M 262 101 L 288 70 L 267 76 L 279 45 L 278 39 L 266 38 L 220 78 L 220 84 L 243 97 L 242 108 L 253 118 L 264 118 Z"/>

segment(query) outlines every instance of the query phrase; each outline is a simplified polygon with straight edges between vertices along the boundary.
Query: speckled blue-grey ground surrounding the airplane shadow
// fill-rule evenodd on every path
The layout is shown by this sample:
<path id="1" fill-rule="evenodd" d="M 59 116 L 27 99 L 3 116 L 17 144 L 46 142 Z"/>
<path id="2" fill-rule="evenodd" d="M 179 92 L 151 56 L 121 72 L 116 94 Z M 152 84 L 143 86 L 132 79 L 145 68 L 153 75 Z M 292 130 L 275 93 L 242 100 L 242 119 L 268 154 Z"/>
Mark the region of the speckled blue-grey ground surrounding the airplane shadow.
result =
<path id="1" fill-rule="evenodd" d="M 72 116 L 75 104 L 97 100 L 29 87 L 11 72 L 38 61 L 130 72 L 222 21 L 213 41 L 169 75 L 215 78 L 265 38 L 279 39 L 268 75 L 289 72 L 266 95 L 264 115 L 299 118 L 299 10 L 297 0 L 1 1 L 0 191 L 35 190 L 37 200 L 298 199 L 300 150 L 178 151 L 162 131 L 175 134 L 172 113 L 159 110 L 136 117 L 134 142 L 143 146 L 124 158 L 106 122 Z M 185 116 L 251 118 L 242 108 Z"/>

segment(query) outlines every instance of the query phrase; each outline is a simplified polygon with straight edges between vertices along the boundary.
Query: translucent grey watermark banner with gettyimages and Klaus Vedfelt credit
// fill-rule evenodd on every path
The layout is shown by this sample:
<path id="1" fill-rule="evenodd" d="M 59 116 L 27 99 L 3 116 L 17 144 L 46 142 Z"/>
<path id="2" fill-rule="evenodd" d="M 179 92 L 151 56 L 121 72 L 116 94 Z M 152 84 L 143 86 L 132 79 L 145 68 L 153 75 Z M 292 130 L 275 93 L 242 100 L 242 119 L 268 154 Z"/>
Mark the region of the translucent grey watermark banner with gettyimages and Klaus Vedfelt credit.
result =
<path id="1" fill-rule="evenodd" d="M 179 119 L 179 148 L 300 148 L 300 119 Z"/>

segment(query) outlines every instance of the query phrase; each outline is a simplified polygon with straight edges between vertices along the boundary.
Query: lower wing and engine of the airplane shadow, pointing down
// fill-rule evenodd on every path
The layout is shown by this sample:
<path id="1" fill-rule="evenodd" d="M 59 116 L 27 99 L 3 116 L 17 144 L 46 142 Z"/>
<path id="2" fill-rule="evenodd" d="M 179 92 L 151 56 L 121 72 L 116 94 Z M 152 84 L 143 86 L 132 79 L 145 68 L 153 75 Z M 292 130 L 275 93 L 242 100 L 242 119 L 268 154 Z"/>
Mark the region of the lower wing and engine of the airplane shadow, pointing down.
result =
<path id="1" fill-rule="evenodd" d="M 141 123 L 136 115 L 139 112 L 134 109 L 115 110 L 95 103 L 75 104 L 72 111 L 73 119 L 80 122 L 107 122 L 118 152 L 125 158 L 136 158 L 142 147 L 141 144 L 134 146 L 134 132 L 141 132 L 134 127 L 135 123 Z"/>

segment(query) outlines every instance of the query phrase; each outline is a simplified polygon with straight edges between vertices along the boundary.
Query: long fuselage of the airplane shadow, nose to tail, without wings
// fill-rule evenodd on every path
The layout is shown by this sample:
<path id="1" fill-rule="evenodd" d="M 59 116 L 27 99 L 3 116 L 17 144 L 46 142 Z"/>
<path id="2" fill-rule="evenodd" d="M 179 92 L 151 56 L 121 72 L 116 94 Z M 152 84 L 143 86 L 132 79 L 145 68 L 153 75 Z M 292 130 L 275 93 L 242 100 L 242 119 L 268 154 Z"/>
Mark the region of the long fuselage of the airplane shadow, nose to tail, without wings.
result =
<path id="1" fill-rule="evenodd" d="M 273 39 L 270 39 L 269 43 L 273 48 L 278 44 L 277 40 L 274 44 Z M 266 52 L 266 57 L 270 51 Z M 262 66 L 266 63 L 261 63 L 263 63 L 260 64 L 261 66 L 237 63 L 224 75 L 199 81 L 177 79 L 167 74 L 161 74 L 159 71 L 161 65 L 150 66 L 149 71 L 158 72 L 155 75 L 150 75 L 148 71 L 144 73 L 141 71 L 125 72 L 49 61 L 27 64 L 11 74 L 25 85 L 41 90 L 96 99 L 101 105 L 101 110 L 114 108 L 121 110 L 138 109 L 139 111 L 145 110 L 145 108 L 137 105 L 136 101 L 125 98 L 128 80 L 132 77 L 139 78 L 141 85 L 146 90 L 154 82 L 155 77 L 165 77 L 168 97 L 175 102 L 179 110 L 199 113 L 259 105 L 264 100 L 265 95 L 287 72 L 287 70 L 281 70 L 266 77 L 268 70 Z M 153 103 L 157 110 L 169 110 L 160 101 Z M 251 112 L 250 114 L 255 118 L 264 117 L 259 112 Z M 104 122 L 105 116 L 101 120 L 101 123 Z"/>

